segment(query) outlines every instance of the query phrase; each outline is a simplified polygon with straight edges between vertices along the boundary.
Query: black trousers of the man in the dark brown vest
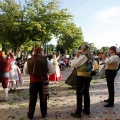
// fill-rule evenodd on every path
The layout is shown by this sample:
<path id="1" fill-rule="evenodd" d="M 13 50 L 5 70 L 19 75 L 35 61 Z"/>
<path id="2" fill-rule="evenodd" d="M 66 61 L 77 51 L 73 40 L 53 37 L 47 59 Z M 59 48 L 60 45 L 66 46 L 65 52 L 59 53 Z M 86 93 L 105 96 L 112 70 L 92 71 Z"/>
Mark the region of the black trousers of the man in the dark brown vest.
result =
<path id="1" fill-rule="evenodd" d="M 28 114 L 30 116 L 34 115 L 35 112 L 35 106 L 37 102 L 37 96 L 39 93 L 39 99 L 40 99 L 40 110 L 42 116 L 46 116 L 47 114 L 47 99 L 43 100 L 43 83 L 42 82 L 31 82 L 30 88 L 29 88 L 29 111 Z"/>

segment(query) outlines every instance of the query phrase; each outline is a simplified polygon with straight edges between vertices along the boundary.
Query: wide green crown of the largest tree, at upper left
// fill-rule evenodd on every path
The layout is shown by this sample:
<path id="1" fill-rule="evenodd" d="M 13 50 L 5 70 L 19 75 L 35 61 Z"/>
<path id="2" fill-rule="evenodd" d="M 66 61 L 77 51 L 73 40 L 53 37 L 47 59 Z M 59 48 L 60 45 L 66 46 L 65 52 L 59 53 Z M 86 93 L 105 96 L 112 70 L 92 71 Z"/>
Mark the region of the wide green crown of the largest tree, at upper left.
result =
<path id="1" fill-rule="evenodd" d="M 26 41 L 49 42 L 59 36 L 63 24 L 72 16 L 66 9 L 59 9 L 59 2 L 30 0 L 24 6 L 15 0 L 0 2 L 0 40 L 9 42 L 14 51 Z"/>

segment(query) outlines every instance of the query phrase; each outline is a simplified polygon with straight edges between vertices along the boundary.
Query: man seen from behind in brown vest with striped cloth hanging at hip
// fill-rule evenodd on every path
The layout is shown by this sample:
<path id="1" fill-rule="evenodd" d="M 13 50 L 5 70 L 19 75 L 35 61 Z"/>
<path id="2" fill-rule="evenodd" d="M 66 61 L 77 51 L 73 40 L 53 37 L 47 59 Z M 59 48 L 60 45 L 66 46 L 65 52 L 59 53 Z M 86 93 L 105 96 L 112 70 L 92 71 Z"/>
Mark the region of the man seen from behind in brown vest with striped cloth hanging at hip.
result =
<path id="1" fill-rule="evenodd" d="M 45 118 L 47 115 L 47 97 L 49 97 L 48 73 L 53 74 L 55 69 L 52 63 L 44 57 L 42 50 L 40 47 L 35 47 L 33 57 L 28 59 L 23 68 L 23 73 L 30 75 L 30 99 L 27 115 L 29 119 L 32 119 L 34 116 L 38 93 L 42 118 Z"/>

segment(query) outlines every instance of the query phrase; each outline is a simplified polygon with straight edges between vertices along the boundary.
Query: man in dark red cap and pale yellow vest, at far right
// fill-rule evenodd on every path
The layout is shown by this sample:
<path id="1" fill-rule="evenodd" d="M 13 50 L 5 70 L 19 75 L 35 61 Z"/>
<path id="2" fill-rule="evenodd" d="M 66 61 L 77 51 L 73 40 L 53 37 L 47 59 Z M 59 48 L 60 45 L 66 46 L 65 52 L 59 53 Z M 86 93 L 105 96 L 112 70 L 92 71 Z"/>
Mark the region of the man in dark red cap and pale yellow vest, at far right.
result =
<path id="1" fill-rule="evenodd" d="M 116 53 L 116 47 L 111 46 L 109 48 L 110 56 L 106 56 L 106 52 L 103 54 L 103 63 L 105 63 L 106 67 L 106 80 L 107 80 L 107 87 L 108 87 L 108 99 L 104 100 L 107 102 L 104 107 L 113 107 L 114 106 L 114 81 L 115 76 L 117 74 L 117 69 L 119 66 L 119 57 Z"/>

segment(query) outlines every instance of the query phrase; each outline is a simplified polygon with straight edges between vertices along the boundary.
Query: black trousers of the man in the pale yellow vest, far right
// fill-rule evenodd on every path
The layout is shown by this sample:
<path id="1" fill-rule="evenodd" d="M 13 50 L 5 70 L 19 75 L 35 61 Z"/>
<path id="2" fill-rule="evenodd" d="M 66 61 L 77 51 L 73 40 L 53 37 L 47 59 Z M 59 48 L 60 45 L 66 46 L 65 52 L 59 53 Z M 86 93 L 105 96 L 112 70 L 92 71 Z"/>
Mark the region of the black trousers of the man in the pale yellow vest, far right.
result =
<path id="1" fill-rule="evenodd" d="M 108 99 L 109 104 L 114 104 L 114 81 L 115 76 L 117 74 L 117 70 L 106 70 L 106 80 L 107 80 L 107 87 L 108 87 Z"/>

